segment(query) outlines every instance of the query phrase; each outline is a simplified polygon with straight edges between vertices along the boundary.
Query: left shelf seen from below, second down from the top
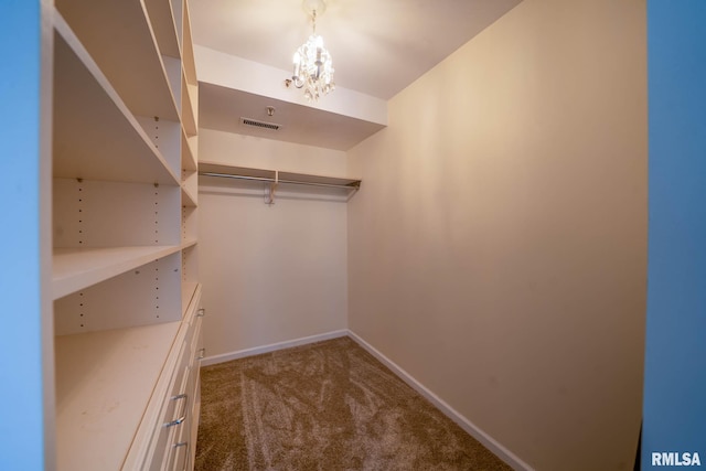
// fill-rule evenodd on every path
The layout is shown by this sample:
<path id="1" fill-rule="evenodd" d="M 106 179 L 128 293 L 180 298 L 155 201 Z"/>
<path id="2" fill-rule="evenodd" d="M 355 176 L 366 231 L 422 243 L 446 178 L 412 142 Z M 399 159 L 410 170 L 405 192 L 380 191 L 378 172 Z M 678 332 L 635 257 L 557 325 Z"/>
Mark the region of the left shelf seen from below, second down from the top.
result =
<path id="1" fill-rule="evenodd" d="M 54 176 L 178 185 L 179 176 L 58 14 L 55 26 Z"/>

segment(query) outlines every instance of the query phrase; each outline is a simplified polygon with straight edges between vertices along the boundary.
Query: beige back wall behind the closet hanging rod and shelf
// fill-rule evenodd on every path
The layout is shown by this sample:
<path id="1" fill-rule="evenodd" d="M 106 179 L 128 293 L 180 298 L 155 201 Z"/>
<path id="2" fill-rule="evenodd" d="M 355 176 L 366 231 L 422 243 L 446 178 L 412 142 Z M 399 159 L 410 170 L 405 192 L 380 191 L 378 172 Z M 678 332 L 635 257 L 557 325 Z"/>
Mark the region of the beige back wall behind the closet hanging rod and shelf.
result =
<path id="1" fill-rule="evenodd" d="M 200 130 L 200 159 L 345 175 L 341 151 Z M 208 356 L 346 328 L 346 204 L 331 194 L 202 176 L 199 264 Z"/>

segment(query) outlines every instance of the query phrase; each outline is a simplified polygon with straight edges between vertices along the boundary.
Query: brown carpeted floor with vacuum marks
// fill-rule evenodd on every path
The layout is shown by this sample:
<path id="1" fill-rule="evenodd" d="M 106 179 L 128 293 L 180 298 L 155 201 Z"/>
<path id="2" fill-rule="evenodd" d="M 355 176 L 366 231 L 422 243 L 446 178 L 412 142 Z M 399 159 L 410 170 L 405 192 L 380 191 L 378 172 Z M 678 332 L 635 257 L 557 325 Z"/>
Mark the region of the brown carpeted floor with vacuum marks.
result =
<path id="1" fill-rule="evenodd" d="M 201 381 L 197 471 L 511 469 L 349 338 Z"/>

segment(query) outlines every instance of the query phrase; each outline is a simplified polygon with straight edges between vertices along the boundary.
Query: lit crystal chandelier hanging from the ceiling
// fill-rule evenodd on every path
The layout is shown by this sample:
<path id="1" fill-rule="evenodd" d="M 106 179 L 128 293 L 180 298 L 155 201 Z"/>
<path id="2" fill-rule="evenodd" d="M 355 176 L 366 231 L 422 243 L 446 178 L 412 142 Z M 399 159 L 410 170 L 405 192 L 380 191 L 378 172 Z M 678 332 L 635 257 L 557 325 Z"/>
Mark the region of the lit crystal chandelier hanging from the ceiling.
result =
<path id="1" fill-rule="evenodd" d="M 317 13 L 323 14 L 325 3 L 304 0 L 302 7 L 311 14 L 313 33 L 295 52 L 295 71 L 291 81 L 287 81 L 287 85 L 293 83 L 297 88 L 304 89 L 308 101 L 318 101 L 320 96 L 328 95 L 335 88 L 331 54 L 323 46 L 323 38 L 317 34 Z"/>

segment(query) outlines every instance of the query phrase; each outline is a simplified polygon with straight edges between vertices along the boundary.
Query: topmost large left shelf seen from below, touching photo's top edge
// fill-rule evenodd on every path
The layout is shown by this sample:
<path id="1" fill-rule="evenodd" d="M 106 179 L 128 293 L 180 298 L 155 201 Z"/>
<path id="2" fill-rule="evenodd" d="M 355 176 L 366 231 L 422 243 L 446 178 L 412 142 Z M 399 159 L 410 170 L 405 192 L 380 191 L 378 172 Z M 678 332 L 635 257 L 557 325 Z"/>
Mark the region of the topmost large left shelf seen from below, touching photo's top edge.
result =
<path id="1" fill-rule="evenodd" d="M 143 2 L 56 0 L 56 9 L 135 115 L 179 121 Z M 159 12 L 157 21 L 168 22 Z"/>

